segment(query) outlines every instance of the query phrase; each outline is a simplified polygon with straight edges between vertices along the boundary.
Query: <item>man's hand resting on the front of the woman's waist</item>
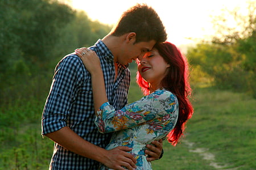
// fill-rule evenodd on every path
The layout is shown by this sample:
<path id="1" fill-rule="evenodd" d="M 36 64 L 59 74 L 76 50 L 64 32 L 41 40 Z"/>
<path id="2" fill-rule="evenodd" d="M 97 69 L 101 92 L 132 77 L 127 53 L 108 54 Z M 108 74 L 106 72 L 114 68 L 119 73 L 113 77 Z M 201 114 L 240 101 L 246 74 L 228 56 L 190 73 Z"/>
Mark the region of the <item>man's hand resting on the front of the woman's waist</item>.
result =
<path id="1" fill-rule="evenodd" d="M 118 170 L 134 169 L 136 168 L 137 160 L 133 157 L 133 155 L 129 154 L 128 151 L 131 151 L 132 148 L 127 146 L 118 146 L 113 148 L 112 150 L 108 150 L 107 158 L 102 160 L 101 163 L 106 165 L 106 167 Z"/>

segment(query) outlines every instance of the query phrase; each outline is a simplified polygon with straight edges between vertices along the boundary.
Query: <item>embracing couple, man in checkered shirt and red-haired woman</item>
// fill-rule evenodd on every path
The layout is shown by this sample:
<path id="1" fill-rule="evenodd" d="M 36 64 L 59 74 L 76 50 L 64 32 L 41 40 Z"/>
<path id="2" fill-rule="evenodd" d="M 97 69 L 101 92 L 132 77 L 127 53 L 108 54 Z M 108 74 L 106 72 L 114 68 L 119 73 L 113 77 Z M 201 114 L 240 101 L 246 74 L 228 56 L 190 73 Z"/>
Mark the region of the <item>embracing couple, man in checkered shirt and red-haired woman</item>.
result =
<path id="1" fill-rule="evenodd" d="M 162 140 L 176 145 L 193 108 L 187 60 L 166 39 L 155 10 L 137 4 L 102 40 L 61 59 L 42 115 L 55 141 L 50 169 L 152 169 Z M 133 60 L 145 96 L 127 104 Z"/>

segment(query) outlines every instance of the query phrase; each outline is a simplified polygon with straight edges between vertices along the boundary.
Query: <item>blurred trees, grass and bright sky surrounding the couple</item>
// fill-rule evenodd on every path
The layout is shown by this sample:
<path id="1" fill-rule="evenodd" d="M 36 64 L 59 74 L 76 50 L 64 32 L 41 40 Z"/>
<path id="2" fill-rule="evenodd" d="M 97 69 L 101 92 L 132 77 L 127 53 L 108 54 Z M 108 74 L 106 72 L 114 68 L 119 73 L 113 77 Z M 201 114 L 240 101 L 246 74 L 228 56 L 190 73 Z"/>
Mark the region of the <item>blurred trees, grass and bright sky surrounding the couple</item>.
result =
<path id="1" fill-rule="evenodd" d="M 136 3 L 155 8 L 187 56 L 195 113 L 154 169 L 256 169 L 256 1 L 0 1 L 0 169 L 48 169 L 41 116 L 54 68 Z M 131 63 L 129 102 L 142 97 Z"/>

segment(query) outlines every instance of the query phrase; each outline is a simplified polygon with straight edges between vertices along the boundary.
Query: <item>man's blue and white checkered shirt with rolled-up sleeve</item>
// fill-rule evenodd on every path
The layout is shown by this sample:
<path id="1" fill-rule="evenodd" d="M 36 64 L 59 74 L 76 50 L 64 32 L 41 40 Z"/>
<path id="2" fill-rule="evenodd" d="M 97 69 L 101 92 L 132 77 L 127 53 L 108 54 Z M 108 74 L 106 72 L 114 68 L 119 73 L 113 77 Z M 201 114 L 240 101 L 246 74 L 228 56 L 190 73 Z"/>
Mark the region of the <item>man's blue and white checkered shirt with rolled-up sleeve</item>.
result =
<path id="1" fill-rule="evenodd" d="M 106 45 L 98 40 L 90 49 L 101 60 L 109 103 L 121 109 L 127 103 L 129 69 L 118 64 L 118 76 L 115 80 L 114 57 Z M 94 119 L 90 74 L 78 56 L 69 54 L 55 68 L 42 115 L 42 135 L 68 126 L 86 141 L 105 148 L 112 133 L 101 134 Z M 51 169 L 97 169 L 99 165 L 95 160 L 77 155 L 55 143 Z"/>

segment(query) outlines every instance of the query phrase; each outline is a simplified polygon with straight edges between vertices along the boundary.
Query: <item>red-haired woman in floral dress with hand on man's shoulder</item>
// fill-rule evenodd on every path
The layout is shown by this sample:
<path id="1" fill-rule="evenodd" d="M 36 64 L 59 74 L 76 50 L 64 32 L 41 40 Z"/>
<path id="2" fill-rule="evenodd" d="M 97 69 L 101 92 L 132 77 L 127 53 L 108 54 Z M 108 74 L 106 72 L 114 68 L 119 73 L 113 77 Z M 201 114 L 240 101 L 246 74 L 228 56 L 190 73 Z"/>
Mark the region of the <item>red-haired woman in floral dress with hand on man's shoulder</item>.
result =
<path id="1" fill-rule="evenodd" d="M 144 154 L 146 144 L 167 137 L 175 146 L 183 134 L 185 122 L 193 113 L 187 98 L 191 88 L 186 59 L 174 44 L 156 44 L 137 59 L 137 83 L 146 96 L 115 111 L 106 97 L 104 76 L 96 53 L 81 48 L 76 54 L 92 75 L 98 130 L 102 133 L 115 131 L 106 149 L 132 147 L 137 169 L 152 169 Z M 108 169 L 104 165 L 101 168 Z"/>

